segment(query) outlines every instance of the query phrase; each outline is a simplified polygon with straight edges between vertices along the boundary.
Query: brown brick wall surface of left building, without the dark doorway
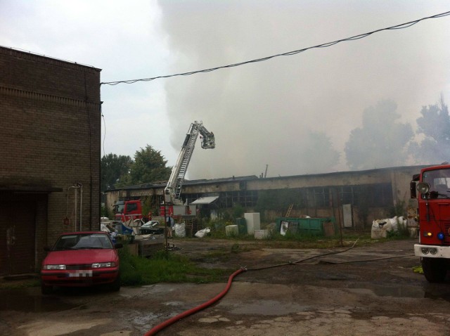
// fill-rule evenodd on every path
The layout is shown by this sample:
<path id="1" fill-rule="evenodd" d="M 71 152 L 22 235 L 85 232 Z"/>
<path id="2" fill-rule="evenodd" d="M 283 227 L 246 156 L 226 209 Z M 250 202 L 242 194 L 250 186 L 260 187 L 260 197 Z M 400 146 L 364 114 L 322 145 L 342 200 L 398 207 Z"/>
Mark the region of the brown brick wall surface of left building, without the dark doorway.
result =
<path id="1" fill-rule="evenodd" d="M 79 222 L 80 190 L 77 212 L 75 189 L 68 192 L 75 183 L 83 186 L 82 228 L 99 227 L 100 71 L 0 47 L 0 187 L 63 190 L 39 200 L 38 246 L 75 228 L 75 214 Z"/>

